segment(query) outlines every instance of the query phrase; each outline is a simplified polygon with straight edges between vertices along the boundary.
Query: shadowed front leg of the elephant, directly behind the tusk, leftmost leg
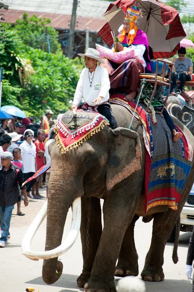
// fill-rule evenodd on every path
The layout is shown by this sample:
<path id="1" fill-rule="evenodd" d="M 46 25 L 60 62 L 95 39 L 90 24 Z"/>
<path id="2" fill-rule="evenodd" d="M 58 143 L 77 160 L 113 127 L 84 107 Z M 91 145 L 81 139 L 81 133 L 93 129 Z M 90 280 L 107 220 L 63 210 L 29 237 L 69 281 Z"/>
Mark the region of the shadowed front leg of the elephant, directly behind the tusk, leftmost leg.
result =
<path id="1" fill-rule="evenodd" d="M 82 198 L 81 240 L 83 255 L 82 274 L 77 278 L 77 285 L 84 287 L 91 274 L 94 258 L 102 234 L 100 199 Z"/>

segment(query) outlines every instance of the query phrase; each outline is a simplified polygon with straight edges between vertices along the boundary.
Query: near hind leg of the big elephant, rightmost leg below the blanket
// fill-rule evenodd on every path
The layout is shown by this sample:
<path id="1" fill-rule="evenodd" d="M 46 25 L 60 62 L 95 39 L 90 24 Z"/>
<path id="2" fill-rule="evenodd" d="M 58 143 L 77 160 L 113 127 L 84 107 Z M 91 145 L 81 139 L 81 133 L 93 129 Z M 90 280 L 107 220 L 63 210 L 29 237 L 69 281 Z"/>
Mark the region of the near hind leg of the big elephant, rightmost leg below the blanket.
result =
<path id="1" fill-rule="evenodd" d="M 180 211 L 168 209 L 167 212 L 154 216 L 152 241 L 145 258 L 145 265 L 141 278 L 145 281 L 163 281 L 164 248 L 178 219 Z"/>

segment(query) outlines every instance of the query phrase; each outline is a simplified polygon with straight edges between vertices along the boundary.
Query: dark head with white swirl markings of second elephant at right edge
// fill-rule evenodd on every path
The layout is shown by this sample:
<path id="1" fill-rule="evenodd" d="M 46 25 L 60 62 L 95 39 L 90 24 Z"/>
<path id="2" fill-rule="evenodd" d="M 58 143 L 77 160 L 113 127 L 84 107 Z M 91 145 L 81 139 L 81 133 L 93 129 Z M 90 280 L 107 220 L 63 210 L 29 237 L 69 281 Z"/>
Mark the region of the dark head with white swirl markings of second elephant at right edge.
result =
<path id="1" fill-rule="evenodd" d="M 183 123 L 194 135 L 194 109 L 189 107 L 188 103 L 182 107 L 176 96 L 170 96 L 168 98 L 167 110 L 171 116 Z"/>

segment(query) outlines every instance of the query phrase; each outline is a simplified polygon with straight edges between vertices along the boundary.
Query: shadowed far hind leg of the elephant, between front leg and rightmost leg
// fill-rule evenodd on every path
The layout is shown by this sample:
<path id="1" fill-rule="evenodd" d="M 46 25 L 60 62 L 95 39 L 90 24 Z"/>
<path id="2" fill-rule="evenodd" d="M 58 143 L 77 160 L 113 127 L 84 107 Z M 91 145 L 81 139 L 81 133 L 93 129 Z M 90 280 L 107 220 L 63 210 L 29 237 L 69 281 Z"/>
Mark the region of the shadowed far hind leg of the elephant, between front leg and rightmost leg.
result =
<path id="1" fill-rule="evenodd" d="M 124 235 L 118 263 L 115 270 L 115 276 L 137 276 L 139 274 L 138 254 L 134 241 L 135 222 L 139 218 L 140 217 L 138 215 L 134 216 Z"/>

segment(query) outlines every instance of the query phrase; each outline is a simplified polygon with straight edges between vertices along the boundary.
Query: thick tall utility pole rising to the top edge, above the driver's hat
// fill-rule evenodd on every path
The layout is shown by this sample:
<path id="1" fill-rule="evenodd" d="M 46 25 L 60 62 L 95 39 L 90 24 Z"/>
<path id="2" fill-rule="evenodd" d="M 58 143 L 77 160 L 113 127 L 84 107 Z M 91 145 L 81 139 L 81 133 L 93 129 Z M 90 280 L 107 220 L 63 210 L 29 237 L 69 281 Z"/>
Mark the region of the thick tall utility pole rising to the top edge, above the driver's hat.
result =
<path id="1" fill-rule="evenodd" d="M 73 8 L 72 8 L 72 13 L 71 13 L 71 23 L 70 23 L 70 36 L 69 36 L 68 50 L 67 50 L 67 57 L 69 57 L 70 59 L 72 59 L 77 5 L 78 5 L 78 0 L 73 0 Z"/>

